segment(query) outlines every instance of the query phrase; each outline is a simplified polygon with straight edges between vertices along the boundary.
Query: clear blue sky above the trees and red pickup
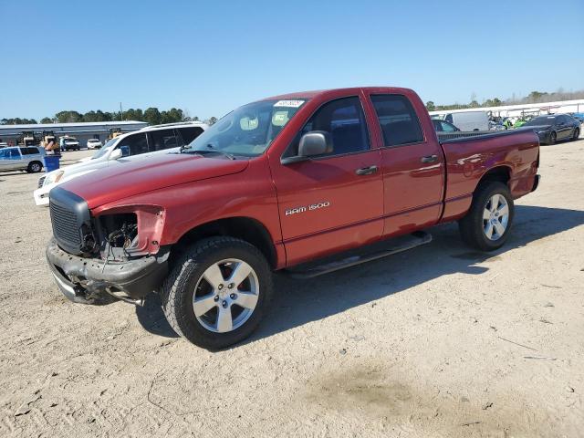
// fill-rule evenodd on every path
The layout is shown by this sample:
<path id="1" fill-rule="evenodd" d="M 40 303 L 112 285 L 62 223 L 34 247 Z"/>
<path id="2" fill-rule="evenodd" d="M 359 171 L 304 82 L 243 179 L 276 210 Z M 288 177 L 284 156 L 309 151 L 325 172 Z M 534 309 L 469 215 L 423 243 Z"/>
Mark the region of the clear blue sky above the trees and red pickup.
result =
<path id="1" fill-rule="evenodd" d="M 467 102 L 584 89 L 584 1 L 0 0 L 0 119 L 148 106 L 220 117 L 288 91 Z"/>

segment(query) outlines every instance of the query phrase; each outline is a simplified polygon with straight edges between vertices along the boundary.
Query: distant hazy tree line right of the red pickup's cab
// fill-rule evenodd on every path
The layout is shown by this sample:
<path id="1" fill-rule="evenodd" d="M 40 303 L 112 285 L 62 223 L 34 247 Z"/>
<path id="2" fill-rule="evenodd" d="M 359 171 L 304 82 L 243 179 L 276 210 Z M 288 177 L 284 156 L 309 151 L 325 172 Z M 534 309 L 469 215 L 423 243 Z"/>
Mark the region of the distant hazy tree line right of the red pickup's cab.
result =
<path id="1" fill-rule="evenodd" d="M 467 108 L 485 108 L 485 107 L 500 107 L 502 105 L 519 105 L 523 103 L 546 103 L 554 102 L 557 100 L 573 100 L 573 99 L 584 99 L 584 90 L 579 91 L 564 91 L 563 89 L 558 89 L 551 93 L 546 91 L 532 91 L 524 98 L 516 99 L 516 96 L 505 100 L 498 98 L 486 99 L 483 103 L 479 103 L 476 100 L 476 94 L 471 95 L 471 101 L 469 103 L 454 103 L 451 105 L 436 105 L 432 100 L 426 102 L 426 108 L 429 111 L 440 111 L 440 110 L 465 110 Z"/>

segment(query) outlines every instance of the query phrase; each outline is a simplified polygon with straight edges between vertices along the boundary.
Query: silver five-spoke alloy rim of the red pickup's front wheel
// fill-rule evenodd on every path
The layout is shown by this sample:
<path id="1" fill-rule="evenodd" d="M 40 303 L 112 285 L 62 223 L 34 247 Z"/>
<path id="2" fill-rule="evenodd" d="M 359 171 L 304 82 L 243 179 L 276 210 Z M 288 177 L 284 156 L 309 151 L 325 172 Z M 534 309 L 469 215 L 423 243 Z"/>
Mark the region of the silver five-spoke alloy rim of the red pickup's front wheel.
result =
<path id="1" fill-rule="evenodd" d="M 228 258 L 209 266 L 193 294 L 197 321 L 209 331 L 226 333 L 245 324 L 254 313 L 259 281 L 252 266 Z"/>

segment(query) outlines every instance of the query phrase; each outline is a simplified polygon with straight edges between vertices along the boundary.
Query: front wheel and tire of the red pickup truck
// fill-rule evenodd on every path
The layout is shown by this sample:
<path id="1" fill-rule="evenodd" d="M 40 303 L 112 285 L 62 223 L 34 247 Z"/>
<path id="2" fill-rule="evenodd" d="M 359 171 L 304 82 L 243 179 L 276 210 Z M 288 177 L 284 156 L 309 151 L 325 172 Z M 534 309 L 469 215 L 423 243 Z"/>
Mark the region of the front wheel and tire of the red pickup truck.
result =
<path id="1" fill-rule="evenodd" d="M 162 286 L 162 308 L 179 335 L 216 350 L 250 336 L 272 295 L 270 266 L 254 245 L 212 237 L 177 261 Z"/>

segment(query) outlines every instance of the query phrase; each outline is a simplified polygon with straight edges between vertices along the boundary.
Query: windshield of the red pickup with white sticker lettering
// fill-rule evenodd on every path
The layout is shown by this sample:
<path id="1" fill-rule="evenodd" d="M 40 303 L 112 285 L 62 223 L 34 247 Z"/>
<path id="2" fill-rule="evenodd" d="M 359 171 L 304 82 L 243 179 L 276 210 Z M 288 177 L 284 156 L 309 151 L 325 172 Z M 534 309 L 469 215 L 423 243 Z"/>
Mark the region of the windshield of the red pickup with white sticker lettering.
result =
<path id="1" fill-rule="evenodd" d="M 230 112 L 183 152 L 219 151 L 255 157 L 266 151 L 307 99 L 262 100 Z"/>

